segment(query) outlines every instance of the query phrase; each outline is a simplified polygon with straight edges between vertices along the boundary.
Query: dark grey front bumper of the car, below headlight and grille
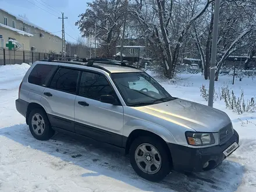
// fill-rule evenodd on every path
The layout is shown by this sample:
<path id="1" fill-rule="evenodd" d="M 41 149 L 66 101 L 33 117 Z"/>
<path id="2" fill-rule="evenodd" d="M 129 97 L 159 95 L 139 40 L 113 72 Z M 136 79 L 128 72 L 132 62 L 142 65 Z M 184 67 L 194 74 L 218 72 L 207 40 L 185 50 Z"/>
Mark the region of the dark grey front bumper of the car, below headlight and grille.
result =
<path id="1" fill-rule="evenodd" d="M 177 171 L 202 172 L 220 165 L 226 158 L 223 151 L 234 142 L 239 144 L 239 134 L 234 130 L 233 136 L 223 145 L 215 145 L 206 148 L 190 148 L 182 145 L 168 143 L 172 154 L 173 169 Z M 204 164 L 209 162 L 207 168 Z"/>

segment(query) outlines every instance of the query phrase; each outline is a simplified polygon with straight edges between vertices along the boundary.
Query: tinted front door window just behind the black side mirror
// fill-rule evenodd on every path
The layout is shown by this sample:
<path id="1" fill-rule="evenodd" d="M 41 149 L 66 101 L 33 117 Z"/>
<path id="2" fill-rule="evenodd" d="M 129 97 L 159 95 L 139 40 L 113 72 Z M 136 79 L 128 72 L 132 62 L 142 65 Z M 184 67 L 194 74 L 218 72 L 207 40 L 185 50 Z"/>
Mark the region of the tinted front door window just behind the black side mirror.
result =
<path id="1" fill-rule="evenodd" d="M 115 91 L 106 80 L 106 77 L 90 72 L 82 73 L 79 95 L 96 100 L 99 100 L 101 95 L 113 95 L 116 97 Z"/>

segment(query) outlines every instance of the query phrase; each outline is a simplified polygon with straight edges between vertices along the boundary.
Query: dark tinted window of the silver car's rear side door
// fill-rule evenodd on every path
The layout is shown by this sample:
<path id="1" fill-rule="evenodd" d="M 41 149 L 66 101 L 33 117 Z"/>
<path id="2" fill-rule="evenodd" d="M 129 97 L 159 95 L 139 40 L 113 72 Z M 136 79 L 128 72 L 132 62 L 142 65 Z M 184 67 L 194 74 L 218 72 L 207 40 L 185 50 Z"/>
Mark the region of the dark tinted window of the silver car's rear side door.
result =
<path id="1" fill-rule="evenodd" d="M 79 70 L 60 67 L 49 87 L 69 93 L 76 93 Z"/>

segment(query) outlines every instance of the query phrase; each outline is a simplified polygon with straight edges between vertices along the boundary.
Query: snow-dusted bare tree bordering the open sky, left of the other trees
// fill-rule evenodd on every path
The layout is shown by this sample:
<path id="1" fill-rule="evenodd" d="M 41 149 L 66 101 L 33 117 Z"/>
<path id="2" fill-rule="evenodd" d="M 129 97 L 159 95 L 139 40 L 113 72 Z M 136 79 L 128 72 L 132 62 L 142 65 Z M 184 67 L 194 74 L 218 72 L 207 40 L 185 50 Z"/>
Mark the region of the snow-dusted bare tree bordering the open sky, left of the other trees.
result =
<path id="1" fill-rule="evenodd" d="M 79 15 L 76 22 L 83 37 L 95 35 L 101 47 L 105 48 L 106 55 L 112 55 L 111 49 L 119 40 L 120 29 L 125 13 L 125 1 L 122 0 L 95 0 L 87 3 L 88 9 Z"/>

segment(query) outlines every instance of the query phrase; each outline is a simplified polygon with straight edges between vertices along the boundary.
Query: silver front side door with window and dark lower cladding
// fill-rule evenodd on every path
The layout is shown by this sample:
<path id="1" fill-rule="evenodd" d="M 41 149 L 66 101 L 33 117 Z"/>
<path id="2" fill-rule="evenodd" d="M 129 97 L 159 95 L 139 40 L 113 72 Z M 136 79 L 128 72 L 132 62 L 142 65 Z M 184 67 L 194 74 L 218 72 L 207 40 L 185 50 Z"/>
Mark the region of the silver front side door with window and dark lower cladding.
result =
<path id="1" fill-rule="evenodd" d="M 101 95 L 115 91 L 105 76 L 82 72 L 79 94 L 74 102 L 76 133 L 104 143 L 122 146 L 123 106 L 99 101 Z"/>

